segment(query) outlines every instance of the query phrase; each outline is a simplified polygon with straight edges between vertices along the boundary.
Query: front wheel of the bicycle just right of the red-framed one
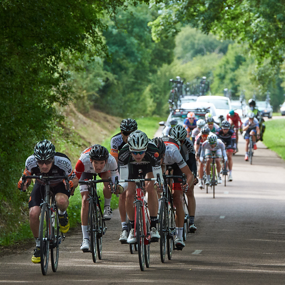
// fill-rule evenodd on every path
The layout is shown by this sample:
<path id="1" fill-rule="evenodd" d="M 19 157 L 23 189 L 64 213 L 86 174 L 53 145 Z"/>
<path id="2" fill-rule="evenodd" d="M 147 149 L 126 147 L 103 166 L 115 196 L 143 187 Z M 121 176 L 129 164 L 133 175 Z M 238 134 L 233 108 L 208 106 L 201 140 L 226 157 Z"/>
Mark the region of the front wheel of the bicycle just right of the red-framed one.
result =
<path id="1" fill-rule="evenodd" d="M 164 263 L 165 261 L 166 236 L 168 232 L 168 227 L 167 227 L 168 206 L 166 205 L 165 202 L 166 202 L 165 198 L 161 199 L 159 218 L 158 218 L 158 229 L 160 235 L 160 260 L 162 263 Z"/>

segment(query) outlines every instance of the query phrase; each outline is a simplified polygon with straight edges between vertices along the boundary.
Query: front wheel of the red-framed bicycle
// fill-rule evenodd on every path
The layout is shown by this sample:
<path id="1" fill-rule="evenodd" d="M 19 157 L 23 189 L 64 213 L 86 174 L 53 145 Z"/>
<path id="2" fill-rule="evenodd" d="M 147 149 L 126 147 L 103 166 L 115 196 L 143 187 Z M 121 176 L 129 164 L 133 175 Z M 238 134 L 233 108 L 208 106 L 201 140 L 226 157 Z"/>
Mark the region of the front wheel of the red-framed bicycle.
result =
<path id="1" fill-rule="evenodd" d="M 139 264 L 141 271 L 144 271 L 144 234 L 143 234 L 143 213 L 141 209 L 141 202 L 136 203 L 136 237 L 139 254 Z"/>

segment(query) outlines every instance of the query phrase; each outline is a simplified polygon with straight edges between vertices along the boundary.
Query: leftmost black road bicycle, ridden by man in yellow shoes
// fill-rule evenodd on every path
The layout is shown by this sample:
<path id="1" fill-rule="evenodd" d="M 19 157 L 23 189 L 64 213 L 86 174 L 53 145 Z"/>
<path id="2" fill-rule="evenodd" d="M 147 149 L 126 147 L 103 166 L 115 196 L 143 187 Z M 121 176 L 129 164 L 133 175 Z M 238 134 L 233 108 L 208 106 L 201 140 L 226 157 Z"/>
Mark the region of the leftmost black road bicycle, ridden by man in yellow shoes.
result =
<path id="1" fill-rule="evenodd" d="M 48 258 L 50 250 L 50 260 L 52 265 L 52 271 L 56 272 L 58 266 L 59 257 L 59 245 L 64 241 L 64 235 L 59 233 L 59 217 L 58 207 L 54 199 L 54 194 L 50 190 L 50 181 L 64 179 L 69 189 L 68 175 L 64 176 L 44 176 L 43 175 L 23 175 L 21 191 L 23 191 L 23 185 L 27 179 L 39 179 L 44 182 L 44 199 L 40 204 L 40 227 L 39 227 L 39 239 L 40 239 L 40 266 L 42 274 L 46 275 L 48 271 Z"/>

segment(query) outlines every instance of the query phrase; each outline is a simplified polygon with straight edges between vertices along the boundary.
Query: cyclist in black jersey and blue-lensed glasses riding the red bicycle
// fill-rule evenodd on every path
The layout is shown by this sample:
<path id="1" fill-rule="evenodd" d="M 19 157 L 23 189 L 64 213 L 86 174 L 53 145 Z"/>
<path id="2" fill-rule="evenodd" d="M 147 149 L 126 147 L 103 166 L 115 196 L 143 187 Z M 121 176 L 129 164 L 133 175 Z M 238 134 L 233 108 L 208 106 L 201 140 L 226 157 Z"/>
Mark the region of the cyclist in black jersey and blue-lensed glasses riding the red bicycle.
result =
<path id="1" fill-rule="evenodd" d="M 160 156 L 158 149 L 154 143 L 148 140 L 147 135 L 136 130 L 128 137 L 126 144 L 120 151 L 118 157 L 121 179 L 137 179 L 139 177 L 139 169 L 143 170 L 145 178 L 154 178 L 156 174 L 160 174 L 163 183 L 162 170 L 160 166 Z M 128 243 L 136 243 L 137 237 L 134 235 L 135 228 L 135 211 L 134 211 L 134 188 L 135 183 L 125 182 L 121 185 L 126 191 L 126 210 L 131 223 L 131 231 L 127 238 Z M 156 219 L 158 213 L 158 197 L 155 190 L 160 189 L 158 183 L 154 181 L 145 182 L 145 190 L 148 193 L 148 209 L 150 213 L 150 239 L 158 241 L 160 235 L 156 229 Z"/>

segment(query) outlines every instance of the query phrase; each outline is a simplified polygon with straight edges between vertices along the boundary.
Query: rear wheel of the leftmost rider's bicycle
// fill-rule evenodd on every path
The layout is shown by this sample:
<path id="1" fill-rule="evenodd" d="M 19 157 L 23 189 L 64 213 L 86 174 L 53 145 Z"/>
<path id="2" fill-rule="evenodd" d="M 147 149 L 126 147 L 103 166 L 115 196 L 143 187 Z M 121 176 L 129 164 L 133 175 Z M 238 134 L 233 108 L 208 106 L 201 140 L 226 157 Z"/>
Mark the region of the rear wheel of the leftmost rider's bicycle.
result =
<path id="1" fill-rule="evenodd" d="M 56 207 L 56 203 L 54 199 L 51 198 L 50 205 L 54 205 L 54 217 L 52 217 L 52 247 L 50 249 L 50 261 L 52 264 L 52 271 L 56 272 L 58 266 L 58 257 L 59 257 L 59 241 L 60 241 L 60 227 L 59 227 L 59 217 L 58 217 L 58 209 Z"/>

